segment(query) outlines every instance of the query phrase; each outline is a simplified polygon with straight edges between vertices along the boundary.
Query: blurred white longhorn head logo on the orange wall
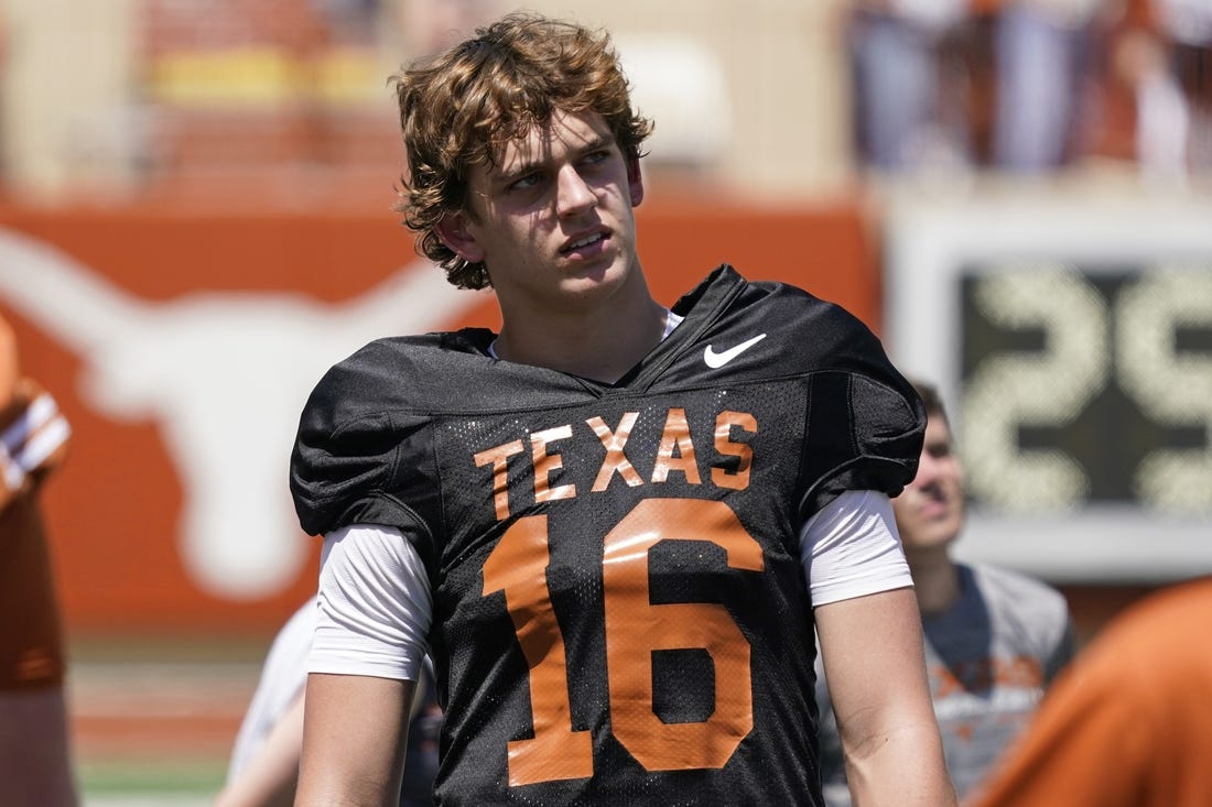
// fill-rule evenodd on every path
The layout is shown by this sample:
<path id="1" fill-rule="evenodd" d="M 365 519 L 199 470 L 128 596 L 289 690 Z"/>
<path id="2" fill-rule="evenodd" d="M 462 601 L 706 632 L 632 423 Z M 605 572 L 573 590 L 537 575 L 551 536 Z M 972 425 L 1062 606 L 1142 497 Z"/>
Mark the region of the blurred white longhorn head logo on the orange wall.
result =
<path id="1" fill-rule="evenodd" d="M 446 326 L 481 297 L 418 261 L 362 296 L 207 292 L 150 303 L 56 247 L 0 229 L 0 298 L 85 365 L 81 396 L 115 419 L 154 418 L 184 487 L 185 568 L 229 599 L 297 576 L 287 462 L 311 387 L 366 342 Z"/>

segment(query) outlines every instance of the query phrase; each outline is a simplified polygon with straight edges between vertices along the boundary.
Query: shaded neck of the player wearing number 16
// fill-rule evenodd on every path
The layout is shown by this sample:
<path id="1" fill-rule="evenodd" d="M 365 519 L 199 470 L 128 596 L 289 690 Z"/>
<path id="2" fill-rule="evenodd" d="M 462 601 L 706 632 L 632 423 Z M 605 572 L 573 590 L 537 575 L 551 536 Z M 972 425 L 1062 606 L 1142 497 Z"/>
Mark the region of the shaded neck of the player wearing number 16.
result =
<path id="1" fill-rule="evenodd" d="M 582 314 L 513 316 L 494 350 L 509 361 L 613 383 L 661 343 L 667 314 L 645 294 L 625 307 Z"/>

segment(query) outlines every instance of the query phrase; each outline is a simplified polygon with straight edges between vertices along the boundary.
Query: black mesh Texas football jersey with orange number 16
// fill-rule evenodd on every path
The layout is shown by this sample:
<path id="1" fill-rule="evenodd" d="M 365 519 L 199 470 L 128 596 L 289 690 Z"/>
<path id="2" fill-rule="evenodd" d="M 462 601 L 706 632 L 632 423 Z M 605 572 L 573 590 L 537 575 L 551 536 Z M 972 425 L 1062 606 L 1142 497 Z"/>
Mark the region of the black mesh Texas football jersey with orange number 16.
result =
<path id="1" fill-rule="evenodd" d="M 303 528 L 425 562 L 440 805 L 819 805 L 804 522 L 913 479 L 925 413 L 877 339 L 715 270 L 614 384 L 464 330 L 375 342 L 307 404 Z"/>

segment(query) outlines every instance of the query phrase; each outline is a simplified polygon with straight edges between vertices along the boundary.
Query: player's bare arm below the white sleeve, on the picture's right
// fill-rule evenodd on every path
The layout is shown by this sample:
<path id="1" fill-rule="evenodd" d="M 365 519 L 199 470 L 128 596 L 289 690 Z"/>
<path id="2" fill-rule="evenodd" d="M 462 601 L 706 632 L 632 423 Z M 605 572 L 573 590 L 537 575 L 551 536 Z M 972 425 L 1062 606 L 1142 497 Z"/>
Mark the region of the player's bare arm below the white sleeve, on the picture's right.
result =
<path id="1" fill-rule="evenodd" d="M 856 805 L 954 806 L 913 589 L 816 609 Z"/>

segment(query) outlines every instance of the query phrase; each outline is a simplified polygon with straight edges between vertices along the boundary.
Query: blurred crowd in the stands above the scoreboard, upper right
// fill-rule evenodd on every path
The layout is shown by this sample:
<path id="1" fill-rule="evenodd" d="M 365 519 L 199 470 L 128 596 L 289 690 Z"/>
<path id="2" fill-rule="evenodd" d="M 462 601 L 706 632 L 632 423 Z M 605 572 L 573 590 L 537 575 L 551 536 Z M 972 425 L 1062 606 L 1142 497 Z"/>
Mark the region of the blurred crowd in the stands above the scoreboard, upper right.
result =
<path id="1" fill-rule="evenodd" d="M 846 38 L 871 170 L 1212 168 L 1210 0 L 856 0 Z"/>

